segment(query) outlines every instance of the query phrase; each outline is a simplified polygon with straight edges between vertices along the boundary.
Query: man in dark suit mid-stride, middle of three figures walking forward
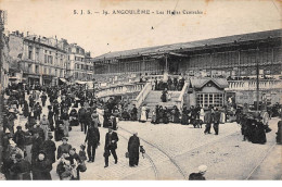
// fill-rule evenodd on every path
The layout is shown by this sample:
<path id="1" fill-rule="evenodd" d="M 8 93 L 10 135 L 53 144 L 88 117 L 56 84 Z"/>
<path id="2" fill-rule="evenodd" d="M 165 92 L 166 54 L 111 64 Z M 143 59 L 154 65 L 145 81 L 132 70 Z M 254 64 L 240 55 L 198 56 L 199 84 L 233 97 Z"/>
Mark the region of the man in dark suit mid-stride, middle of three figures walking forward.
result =
<path id="1" fill-rule="evenodd" d="M 104 148 L 104 158 L 105 158 L 105 166 L 108 166 L 108 157 L 111 153 L 115 159 L 115 164 L 117 164 L 117 155 L 116 155 L 116 148 L 117 148 L 118 136 L 113 129 L 108 128 L 108 133 L 105 136 L 105 148 Z"/>

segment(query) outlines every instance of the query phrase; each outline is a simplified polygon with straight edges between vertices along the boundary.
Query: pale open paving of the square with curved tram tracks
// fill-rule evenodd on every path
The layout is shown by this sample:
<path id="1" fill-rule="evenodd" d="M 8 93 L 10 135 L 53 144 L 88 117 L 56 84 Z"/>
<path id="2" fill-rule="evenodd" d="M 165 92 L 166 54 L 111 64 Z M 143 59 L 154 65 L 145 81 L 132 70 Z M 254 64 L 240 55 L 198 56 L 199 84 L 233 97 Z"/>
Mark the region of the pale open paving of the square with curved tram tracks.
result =
<path id="1" fill-rule="evenodd" d="M 48 101 L 49 102 L 49 101 Z M 47 103 L 48 105 L 49 103 Z M 42 110 L 48 113 L 47 107 Z M 188 179 L 189 174 L 196 172 L 201 164 L 208 166 L 207 179 L 242 180 L 242 179 L 281 179 L 281 145 L 275 145 L 278 119 L 270 121 L 272 132 L 267 134 L 266 145 L 243 141 L 241 127 L 236 123 L 220 124 L 219 135 L 205 135 L 203 128 L 194 128 L 180 124 L 158 124 L 150 122 L 119 122 L 117 155 L 114 164 L 111 155 L 110 166 L 104 169 L 103 147 L 106 128 L 101 127 L 101 146 L 97 149 L 94 163 L 87 162 L 87 171 L 80 173 L 84 180 L 116 179 Z M 24 126 L 26 119 L 18 117 L 15 126 Z M 24 128 L 25 129 L 25 128 Z M 138 132 L 141 145 L 146 153 L 140 154 L 137 167 L 129 167 L 127 152 L 128 139 L 132 132 Z M 213 130 L 211 130 L 213 132 Z M 80 127 L 69 132 L 69 144 L 79 150 L 85 134 Z M 56 147 L 62 142 L 55 142 Z M 53 164 L 52 178 L 59 180 Z"/>

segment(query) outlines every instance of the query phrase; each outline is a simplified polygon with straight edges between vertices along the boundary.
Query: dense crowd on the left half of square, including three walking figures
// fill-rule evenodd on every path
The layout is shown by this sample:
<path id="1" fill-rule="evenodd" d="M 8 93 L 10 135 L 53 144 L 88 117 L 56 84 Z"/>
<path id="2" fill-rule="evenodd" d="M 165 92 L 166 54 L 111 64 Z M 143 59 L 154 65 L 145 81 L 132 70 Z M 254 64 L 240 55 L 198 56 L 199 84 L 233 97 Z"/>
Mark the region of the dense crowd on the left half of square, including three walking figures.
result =
<path id="1" fill-rule="evenodd" d="M 88 159 L 88 162 L 92 163 L 95 160 L 95 149 L 100 146 L 101 124 L 108 128 L 103 154 L 105 167 L 108 166 L 111 154 L 117 164 L 115 150 L 118 136 L 114 130 L 117 129 L 119 120 L 117 107 L 118 104 L 121 107 L 121 102 L 113 98 L 104 102 L 79 85 L 54 87 L 17 85 L 7 89 L 4 103 L 1 172 L 7 179 L 52 179 L 50 172 L 55 162 L 59 163 L 56 173 L 60 179 L 79 179 L 79 173 L 86 171 L 85 161 Z M 42 112 L 44 107 L 48 108 L 48 114 Z M 98 110 L 103 111 L 102 123 Z M 27 123 L 24 126 L 17 123 L 14 132 L 15 121 L 20 119 L 25 119 Z M 79 124 L 86 138 L 77 152 L 67 141 L 72 127 Z M 62 145 L 56 148 L 55 141 L 62 141 Z M 138 142 L 137 134 L 128 142 L 130 166 L 138 165 L 140 146 Z"/>

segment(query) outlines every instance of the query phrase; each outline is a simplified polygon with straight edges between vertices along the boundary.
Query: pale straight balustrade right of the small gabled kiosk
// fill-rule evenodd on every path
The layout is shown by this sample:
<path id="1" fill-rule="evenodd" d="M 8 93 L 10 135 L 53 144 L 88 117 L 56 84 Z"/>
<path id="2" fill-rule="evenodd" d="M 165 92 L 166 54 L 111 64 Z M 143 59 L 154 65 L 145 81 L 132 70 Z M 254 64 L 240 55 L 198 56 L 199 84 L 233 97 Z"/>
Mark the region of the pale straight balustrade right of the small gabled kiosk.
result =
<path id="1" fill-rule="evenodd" d="M 256 90 L 257 82 L 252 80 L 228 80 L 229 87 L 226 90 Z M 282 89 L 282 80 L 259 79 L 259 89 Z"/>

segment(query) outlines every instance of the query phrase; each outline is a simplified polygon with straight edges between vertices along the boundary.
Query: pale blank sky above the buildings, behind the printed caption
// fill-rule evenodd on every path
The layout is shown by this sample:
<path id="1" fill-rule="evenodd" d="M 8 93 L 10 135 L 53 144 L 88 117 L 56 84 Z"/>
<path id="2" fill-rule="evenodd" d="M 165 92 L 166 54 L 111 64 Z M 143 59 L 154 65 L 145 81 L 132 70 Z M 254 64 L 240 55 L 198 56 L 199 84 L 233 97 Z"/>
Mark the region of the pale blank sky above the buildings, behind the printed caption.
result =
<path id="1" fill-rule="evenodd" d="M 7 30 L 65 38 L 92 57 L 279 29 L 281 8 L 279 0 L 0 0 L 8 15 Z M 85 14 L 74 14 L 81 10 Z M 150 14 L 113 14 L 113 10 L 150 10 Z M 167 10 L 180 14 L 167 14 Z"/>

